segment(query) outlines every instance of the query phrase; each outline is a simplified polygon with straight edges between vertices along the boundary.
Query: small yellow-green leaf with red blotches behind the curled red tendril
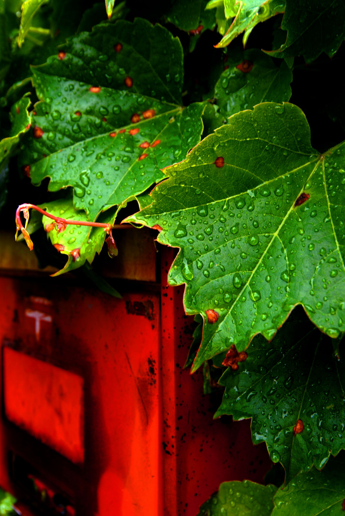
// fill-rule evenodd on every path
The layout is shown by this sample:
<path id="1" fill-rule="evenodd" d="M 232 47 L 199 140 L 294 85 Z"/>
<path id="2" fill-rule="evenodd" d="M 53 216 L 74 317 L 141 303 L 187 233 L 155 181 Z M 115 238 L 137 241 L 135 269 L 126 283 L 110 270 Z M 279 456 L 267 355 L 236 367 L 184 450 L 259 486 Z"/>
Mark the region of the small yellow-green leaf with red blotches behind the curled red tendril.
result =
<path id="1" fill-rule="evenodd" d="M 73 208 L 71 199 L 59 199 L 40 205 L 47 212 L 70 220 L 81 220 L 86 222 L 87 216 L 83 210 L 76 211 Z M 112 224 L 114 221 L 114 211 L 110 210 L 102 214 L 99 222 Z M 84 265 L 86 261 L 91 263 L 95 253 L 100 253 L 106 233 L 103 228 L 90 228 L 87 226 L 68 225 L 67 228 L 58 233 L 54 229 L 54 220 L 43 215 L 42 222 L 48 238 L 54 247 L 62 254 L 68 256 L 67 263 L 63 269 L 55 272 L 53 276 L 59 276 L 63 272 L 67 272 Z M 116 235 L 113 235 L 116 238 Z"/>

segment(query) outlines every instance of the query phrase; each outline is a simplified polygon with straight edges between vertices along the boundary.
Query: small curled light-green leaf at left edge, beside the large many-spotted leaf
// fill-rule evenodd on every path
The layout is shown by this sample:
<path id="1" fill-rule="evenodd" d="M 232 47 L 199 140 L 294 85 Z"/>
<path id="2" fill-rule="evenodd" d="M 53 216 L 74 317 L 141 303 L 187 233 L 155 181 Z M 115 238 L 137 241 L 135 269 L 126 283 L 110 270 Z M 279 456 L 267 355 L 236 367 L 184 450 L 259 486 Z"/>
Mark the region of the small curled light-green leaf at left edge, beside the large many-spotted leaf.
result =
<path id="1" fill-rule="evenodd" d="M 12 128 L 7 138 L 0 141 L 0 165 L 4 166 L 19 147 L 20 136 L 29 130 L 31 117 L 28 113 L 30 100 L 26 95 L 16 102 L 10 113 Z"/>

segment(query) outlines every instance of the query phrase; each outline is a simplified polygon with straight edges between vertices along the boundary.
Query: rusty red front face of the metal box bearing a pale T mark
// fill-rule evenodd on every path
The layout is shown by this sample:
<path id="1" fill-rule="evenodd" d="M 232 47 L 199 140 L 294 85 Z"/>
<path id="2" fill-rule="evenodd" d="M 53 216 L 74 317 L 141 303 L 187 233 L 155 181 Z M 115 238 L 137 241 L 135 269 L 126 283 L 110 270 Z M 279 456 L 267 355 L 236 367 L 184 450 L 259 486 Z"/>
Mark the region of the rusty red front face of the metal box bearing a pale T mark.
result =
<path id="1" fill-rule="evenodd" d="M 85 396 L 84 463 L 2 421 L 0 485 L 30 499 L 11 453 L 77 516 L 162 516 L 158 289 L 115 299 L 63 280 L 0 278 L 0 291 L 0 342 L 83 378 Z"/>

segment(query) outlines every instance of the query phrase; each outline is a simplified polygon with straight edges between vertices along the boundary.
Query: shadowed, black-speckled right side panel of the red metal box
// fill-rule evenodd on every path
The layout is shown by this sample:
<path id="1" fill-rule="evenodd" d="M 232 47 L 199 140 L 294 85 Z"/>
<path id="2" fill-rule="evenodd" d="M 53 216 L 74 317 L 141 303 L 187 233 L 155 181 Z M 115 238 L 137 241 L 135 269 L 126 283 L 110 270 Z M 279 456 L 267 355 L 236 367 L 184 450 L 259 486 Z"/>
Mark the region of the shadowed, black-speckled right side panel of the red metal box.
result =
<path id="1" fill-rule="evenodd" d="M 221 482 L 264 480 L 271 467 L 265 444 L 253 446 L 250 421 L 213 420 L 221 393 L 203 395 L 199 370 L 183 369 L 193 317 L 183 307 L 184 285 L 167 286 L 174 250 L 162 261 L 162 419 L 165 516 L 195 516 Z"/>

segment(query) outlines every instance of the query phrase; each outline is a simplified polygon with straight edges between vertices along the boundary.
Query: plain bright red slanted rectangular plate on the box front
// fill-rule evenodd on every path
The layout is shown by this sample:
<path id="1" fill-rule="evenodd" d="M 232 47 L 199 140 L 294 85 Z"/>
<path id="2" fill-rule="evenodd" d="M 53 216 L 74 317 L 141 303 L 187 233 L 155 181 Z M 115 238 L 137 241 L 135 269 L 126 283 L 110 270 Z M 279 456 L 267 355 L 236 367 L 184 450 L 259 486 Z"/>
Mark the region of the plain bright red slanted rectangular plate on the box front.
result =
<path id="1" fill-rule="evenodd" d="M 5 415 L 74 463 L 84 461 L 84 380 L 3 348 Z"/>

